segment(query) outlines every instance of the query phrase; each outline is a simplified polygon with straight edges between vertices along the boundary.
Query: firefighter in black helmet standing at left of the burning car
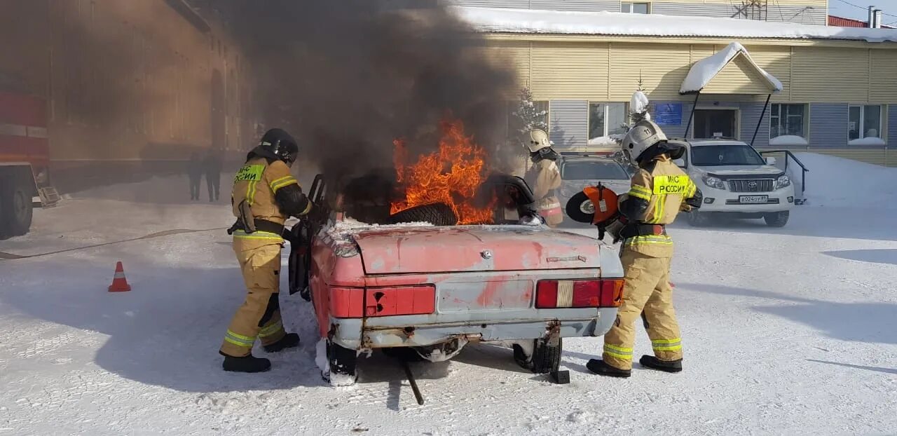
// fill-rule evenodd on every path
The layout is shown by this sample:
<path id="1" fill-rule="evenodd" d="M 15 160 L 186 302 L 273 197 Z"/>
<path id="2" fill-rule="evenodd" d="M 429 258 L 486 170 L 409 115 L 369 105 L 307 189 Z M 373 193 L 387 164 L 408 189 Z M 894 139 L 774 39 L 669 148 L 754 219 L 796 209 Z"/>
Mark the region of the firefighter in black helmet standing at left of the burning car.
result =
<path id="1" fill-rule="evenodd" d="M 313 207 L 290 174 L 298 153 L 292 136 L 273 128 L 248 153 L 234 178 L 231 204 L 237 222 L 228 233 L 233 235 L 233 251 L 248 293 L 219 352 L 224 371 L 269 370 L 270 361 L 251 353 L 256 339 L 268 353 L 299 345 L 299 335 L 283 330 L 278 300 L 283 222 L 291 215 L 305 216 Z"/>

